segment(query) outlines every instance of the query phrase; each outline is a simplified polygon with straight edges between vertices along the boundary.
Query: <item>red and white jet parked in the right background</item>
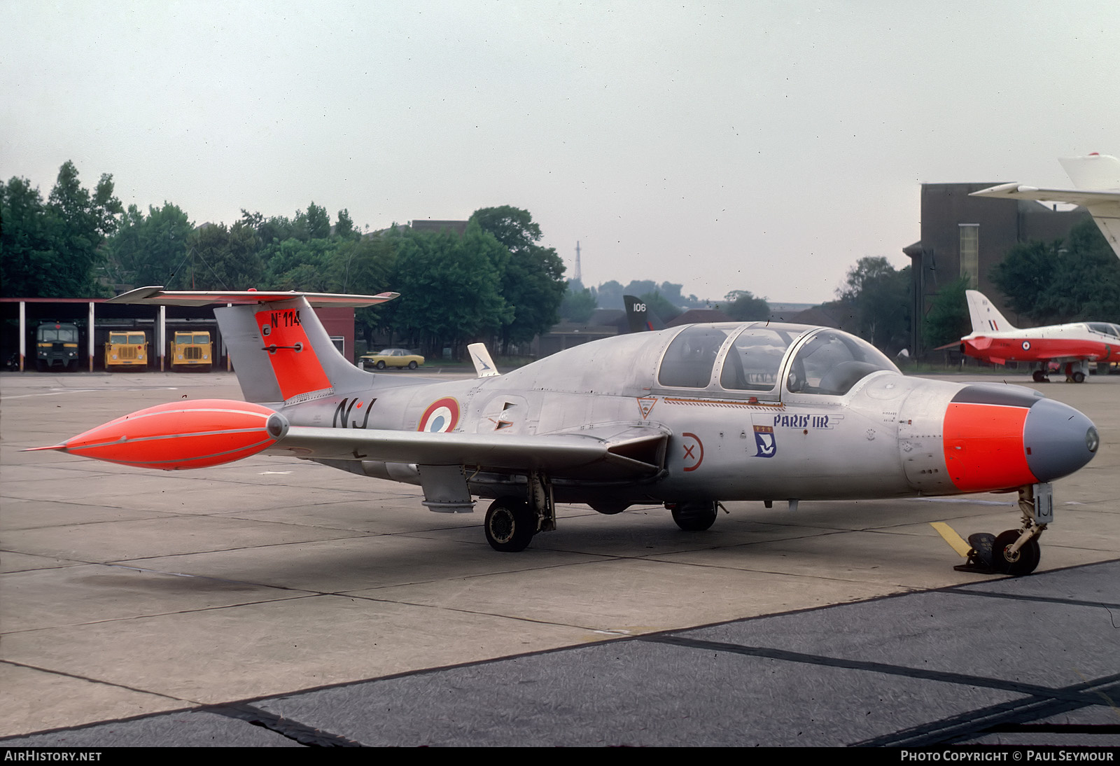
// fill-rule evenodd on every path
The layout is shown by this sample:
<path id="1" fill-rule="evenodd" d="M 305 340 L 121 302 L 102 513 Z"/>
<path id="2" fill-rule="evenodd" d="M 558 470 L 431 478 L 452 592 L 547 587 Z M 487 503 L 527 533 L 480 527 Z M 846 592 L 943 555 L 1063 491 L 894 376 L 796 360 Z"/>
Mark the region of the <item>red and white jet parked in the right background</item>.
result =
<path id="1" fill-rule="evenodd" d="M 1049 365 L 1062 365 L 1067 383 L 1083 383 L 1089 363 L 1120 362 L 1120 325 L 1074 321 L 1018 329 L 983 293 L 965 290 L 972 334 L 961 338 L 961 353 L 986 362 L 1037 362 L 1036 383 L 1049 381 Z M 950 344 L 952 346 L 953 344 Z"/>

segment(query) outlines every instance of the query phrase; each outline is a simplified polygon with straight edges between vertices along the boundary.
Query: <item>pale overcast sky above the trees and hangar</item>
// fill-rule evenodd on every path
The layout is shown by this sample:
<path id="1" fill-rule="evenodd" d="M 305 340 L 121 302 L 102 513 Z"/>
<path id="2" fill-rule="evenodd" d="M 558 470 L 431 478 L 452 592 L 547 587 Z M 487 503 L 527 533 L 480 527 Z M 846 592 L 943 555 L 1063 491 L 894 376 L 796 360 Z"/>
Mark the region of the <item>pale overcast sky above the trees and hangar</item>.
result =
<path id="1" fill-rule="evenodd" d="M 922 183 L 1120 155 L 1120 2 L 0 0 L 0 176 L 195 223 L 529 209 L 588 286 L 830 300 Z M 249 286 L 245 286 L 249 287 Z"/>

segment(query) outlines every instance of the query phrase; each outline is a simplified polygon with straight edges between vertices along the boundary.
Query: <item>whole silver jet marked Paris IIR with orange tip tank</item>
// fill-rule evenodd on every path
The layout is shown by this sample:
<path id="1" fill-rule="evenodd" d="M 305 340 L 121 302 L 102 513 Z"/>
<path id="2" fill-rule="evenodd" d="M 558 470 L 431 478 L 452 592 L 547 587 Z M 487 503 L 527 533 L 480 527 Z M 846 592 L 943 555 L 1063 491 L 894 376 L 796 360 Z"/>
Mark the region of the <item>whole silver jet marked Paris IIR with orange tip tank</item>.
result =
<path id="1" fill-rule="evenodd" d="M 721 501 L 890 498 L 1018 492 L 1023 520 L 969 539 L 963 568 L 1025 574 L 1053 521 L 1051 483 L 1092 458 L 1089 418 L 1014 385 L 902 375 L 870 344 L 827 327 L 685 325 L 622 335 L 502 375 L 472 353 L 470 380 L 368 373 L 330 343 L 312 306 L 394 298 L 141 288 L 118 303 L 232 303 L 214 314 L 246 401 L 177 401 L 53 447 L 147 468 L 250 455 L 314 460 L 419 485 L 431 511 L 470 512 L 520 551 L 554 530 L 556 503 L 604 514 L 663 504 L 707 530 Z M 475 347 L 477 351 L 477 347 Z"/>

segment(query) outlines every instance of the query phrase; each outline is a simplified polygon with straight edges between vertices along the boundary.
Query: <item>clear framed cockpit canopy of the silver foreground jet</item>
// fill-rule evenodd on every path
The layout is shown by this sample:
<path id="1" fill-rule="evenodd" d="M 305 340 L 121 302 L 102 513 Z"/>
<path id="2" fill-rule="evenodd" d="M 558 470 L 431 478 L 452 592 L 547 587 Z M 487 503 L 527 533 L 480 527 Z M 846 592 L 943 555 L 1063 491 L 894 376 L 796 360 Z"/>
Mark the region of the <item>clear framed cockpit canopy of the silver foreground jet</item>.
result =
<path id="1" fill-rule="evenodd" d="M 689 325 L 665 349 L 657 383 L 708 389 L 715 373 L 726 391 L 777 394 L 783 362 L 794 348 L 786 371 L 786 389 L 794 393 L 841 395 L 872 372 L 898 372 L 872 345 L 840 330 L 766 323 Z"/>

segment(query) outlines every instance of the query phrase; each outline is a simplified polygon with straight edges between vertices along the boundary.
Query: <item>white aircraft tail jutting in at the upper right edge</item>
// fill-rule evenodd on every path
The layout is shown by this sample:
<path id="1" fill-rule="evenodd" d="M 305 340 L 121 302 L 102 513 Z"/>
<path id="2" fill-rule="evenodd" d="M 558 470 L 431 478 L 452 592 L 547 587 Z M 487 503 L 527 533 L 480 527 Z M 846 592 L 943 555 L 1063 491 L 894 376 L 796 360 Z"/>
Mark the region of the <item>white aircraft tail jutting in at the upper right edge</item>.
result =
<path id="1" fill-rule="evenodd" d="M 973 197 L 1037 199 L 1082 205 L 1089 209 L 1112 252 L 1120 258 L 1120 159 L 1111 155 L 1065 157 L 1058 160 L 1074 189 L 1044 189 L 1020 184 L 1000 184 L 973 192 Z"/>

